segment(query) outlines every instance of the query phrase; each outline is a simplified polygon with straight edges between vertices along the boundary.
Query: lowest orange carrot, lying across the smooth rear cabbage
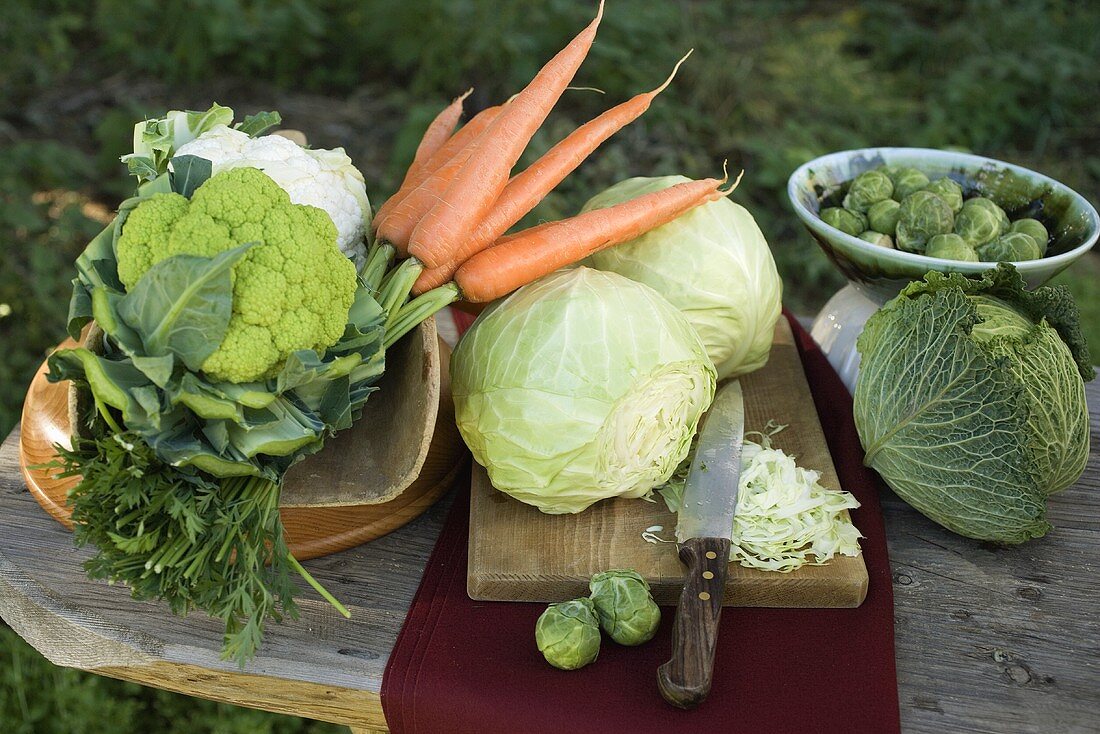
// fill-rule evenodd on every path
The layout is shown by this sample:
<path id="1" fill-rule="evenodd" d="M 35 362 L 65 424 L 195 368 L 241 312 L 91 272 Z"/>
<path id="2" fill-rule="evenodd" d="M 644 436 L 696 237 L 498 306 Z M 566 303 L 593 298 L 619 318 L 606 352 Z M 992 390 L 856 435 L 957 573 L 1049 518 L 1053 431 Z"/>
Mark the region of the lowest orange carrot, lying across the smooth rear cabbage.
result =
<path id="1" fill-rule="evenodd" d="M 733 186 L 722 190 L 725 182 L 685 182 L 518 232 L 463 263 L 454 282 L 465 300 L 494 300 L 594 252 L 632 240 L 701 204 L 727 196 Z"/>

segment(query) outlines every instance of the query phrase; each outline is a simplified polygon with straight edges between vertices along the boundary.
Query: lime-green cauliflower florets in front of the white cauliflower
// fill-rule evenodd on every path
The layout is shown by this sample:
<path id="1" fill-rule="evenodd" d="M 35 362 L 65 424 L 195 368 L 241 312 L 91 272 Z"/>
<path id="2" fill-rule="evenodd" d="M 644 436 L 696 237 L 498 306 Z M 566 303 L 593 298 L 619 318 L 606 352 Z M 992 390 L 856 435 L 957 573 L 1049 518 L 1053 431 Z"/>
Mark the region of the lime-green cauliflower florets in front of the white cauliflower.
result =
<path id="1" fill-rule="evenodd" d="M 127 288 L 173 255 L 212 258 L 257 242 L 233 269 L 233 315 L 202 363 L 213 380 L 274 376 L 299 349 L 323 352 L 343 335 L 355 295 L 355 266 L 337 247 L 324 211 L 296 205 L 258 168 L 219 173 L 190 200 L 158 194 L 127 219 L 117 243 Z"/>

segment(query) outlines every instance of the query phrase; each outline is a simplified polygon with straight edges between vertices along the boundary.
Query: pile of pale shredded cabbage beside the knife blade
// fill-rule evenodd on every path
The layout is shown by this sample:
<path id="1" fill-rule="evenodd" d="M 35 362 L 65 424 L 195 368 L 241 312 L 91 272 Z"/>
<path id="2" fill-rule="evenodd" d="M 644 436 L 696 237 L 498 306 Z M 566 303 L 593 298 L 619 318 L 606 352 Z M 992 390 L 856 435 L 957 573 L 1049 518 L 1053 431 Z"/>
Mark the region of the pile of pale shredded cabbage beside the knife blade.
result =
<path id="1" fill-rule="evenodd" d="M 821 472 L 799 467 L 794 457 L 773 448 L 771 436 L 784 427 L 770 426 L 768 434 L 756 432 L 760 442 L 746 440 L 741 450 L 729 560 L 787 573 L 822 566 L 836 555 L 858 556 L 862 536 L 843 513 L 859 502 L 822 486 Z M 680 510 L 689 462 L 658 490 L 672 512 Z"/>

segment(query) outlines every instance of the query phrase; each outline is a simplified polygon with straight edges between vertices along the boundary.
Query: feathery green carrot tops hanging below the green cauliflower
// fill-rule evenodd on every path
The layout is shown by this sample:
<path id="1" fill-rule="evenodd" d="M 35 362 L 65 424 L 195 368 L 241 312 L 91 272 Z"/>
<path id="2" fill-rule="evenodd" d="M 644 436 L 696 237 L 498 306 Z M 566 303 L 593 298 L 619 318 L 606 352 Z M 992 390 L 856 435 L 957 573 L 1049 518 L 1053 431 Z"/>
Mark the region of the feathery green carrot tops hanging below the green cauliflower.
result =
<path id="1" fill-rule="evenodd" d="M 62 474 L 80 476 L 69 495 L 77 544 L 97 549 L 86 570 L 125 583 L 135 599 L 164 600 L 175 614 L 200 609 L 221 620 L 222 657 L 243 666 L 267 620 L 297 616 L 290 579 L 300 569 L 286 545 L 278 484 L 173 467 L 138 435 L 108 429 L 116 421 L 103 406 L 100 414 L 97 438 L 58 447 Z"/>

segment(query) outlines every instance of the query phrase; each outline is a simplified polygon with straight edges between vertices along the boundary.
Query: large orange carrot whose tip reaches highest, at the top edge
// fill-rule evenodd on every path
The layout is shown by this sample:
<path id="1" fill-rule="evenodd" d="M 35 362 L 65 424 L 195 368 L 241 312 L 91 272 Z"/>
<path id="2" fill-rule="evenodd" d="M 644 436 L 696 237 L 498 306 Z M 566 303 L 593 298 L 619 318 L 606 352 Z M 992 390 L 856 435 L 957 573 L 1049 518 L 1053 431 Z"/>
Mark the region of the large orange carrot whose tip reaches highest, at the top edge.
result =
<path id="1" fill-rule="evenodd" d="M 446 264 L 492 209 L 508 183 L 512 167 L 592 47 L 603 13 L 604 2 L 600 0 L 595 20 L 547 62 L 531 83 L 505 106 L 485 131 L 485 144 L 417 224 L 409 240 L 409 253 L 421 263 L 428 267 Z"/>

